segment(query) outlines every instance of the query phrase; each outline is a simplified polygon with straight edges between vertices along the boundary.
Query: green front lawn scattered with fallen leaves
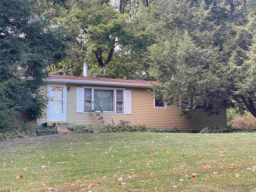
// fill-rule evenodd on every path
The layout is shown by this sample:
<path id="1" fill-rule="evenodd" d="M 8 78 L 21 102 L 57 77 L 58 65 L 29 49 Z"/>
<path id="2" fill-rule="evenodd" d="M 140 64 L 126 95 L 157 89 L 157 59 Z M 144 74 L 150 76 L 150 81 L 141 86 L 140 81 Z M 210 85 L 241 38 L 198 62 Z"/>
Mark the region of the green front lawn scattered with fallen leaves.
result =
<path id="1" fill-rule="evenodd" d="M 42 136 L 0 143 L 0 164 L 1 192 L 256 191 L 256 133 Z"/>

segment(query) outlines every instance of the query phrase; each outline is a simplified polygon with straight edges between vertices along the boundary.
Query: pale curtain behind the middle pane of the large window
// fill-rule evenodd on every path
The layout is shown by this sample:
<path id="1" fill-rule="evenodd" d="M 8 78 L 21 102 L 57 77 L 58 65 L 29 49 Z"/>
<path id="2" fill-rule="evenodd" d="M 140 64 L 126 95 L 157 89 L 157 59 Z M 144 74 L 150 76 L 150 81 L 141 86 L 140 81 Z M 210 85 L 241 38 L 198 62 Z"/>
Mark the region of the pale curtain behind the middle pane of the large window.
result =
<path id="1" fill-rule="evenodd" d="M 96 111 L 100 111 L 102 107 L 103 111 L 113 110 L 113 90 L 94 90 L 94 106 Z"/>

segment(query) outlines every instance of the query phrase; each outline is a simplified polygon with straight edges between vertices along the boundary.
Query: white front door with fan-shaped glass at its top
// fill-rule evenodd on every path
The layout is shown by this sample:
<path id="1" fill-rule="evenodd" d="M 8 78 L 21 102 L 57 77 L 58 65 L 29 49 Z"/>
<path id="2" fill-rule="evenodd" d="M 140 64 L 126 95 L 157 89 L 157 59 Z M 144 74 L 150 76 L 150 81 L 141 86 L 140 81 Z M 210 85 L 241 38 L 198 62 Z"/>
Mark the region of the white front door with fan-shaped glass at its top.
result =
<path id="1" fill-rule="evenodd" d="M 50 122 L 66 122 L 66 85 L 48 85 L 47 117 Z"/>

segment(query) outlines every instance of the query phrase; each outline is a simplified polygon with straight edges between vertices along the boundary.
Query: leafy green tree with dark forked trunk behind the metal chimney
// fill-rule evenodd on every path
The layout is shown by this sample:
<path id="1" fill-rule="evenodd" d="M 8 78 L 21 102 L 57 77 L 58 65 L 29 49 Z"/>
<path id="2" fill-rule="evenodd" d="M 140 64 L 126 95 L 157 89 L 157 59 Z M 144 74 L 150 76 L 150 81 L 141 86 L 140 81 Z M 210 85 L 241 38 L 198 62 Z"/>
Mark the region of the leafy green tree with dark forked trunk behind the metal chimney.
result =
<path id="1" fill-rule="evenodd" d="M 69 45 L 59 73 L 79 76 L 87 62 L 89 76 L 148 78 L 143 60 L 149 40 L 129 14 L 108 0 L 67 0 L 55 8 L 54 21 Z"/>

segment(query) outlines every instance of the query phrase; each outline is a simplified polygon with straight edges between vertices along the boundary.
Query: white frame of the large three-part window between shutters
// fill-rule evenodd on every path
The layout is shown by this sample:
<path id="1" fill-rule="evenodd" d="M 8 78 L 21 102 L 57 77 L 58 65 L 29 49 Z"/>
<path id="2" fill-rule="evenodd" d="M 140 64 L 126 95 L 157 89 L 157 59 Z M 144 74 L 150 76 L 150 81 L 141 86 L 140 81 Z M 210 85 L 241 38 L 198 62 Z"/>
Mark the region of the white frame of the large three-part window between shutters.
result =
<path id="1" fill-rule="evenodd" d="M 84 89 L 92 89 L 92 108 L 94 108 L 94 90 L 113 90 L 113 109 L 114 111 L 103 111 L 104 114 L 125 114 L 125 88 L 114 88 L 114 87 L 94 87 L 94 86 L 83 86 L 82 87 L 82 111 L 83 113 L 93 113 L 90 111 L 84 111 Z M 123 112 L 116 112 L 116 90 L 122 90 L 123 91 Z M 100 111 L 96 111 L 100 112 Z"/>

